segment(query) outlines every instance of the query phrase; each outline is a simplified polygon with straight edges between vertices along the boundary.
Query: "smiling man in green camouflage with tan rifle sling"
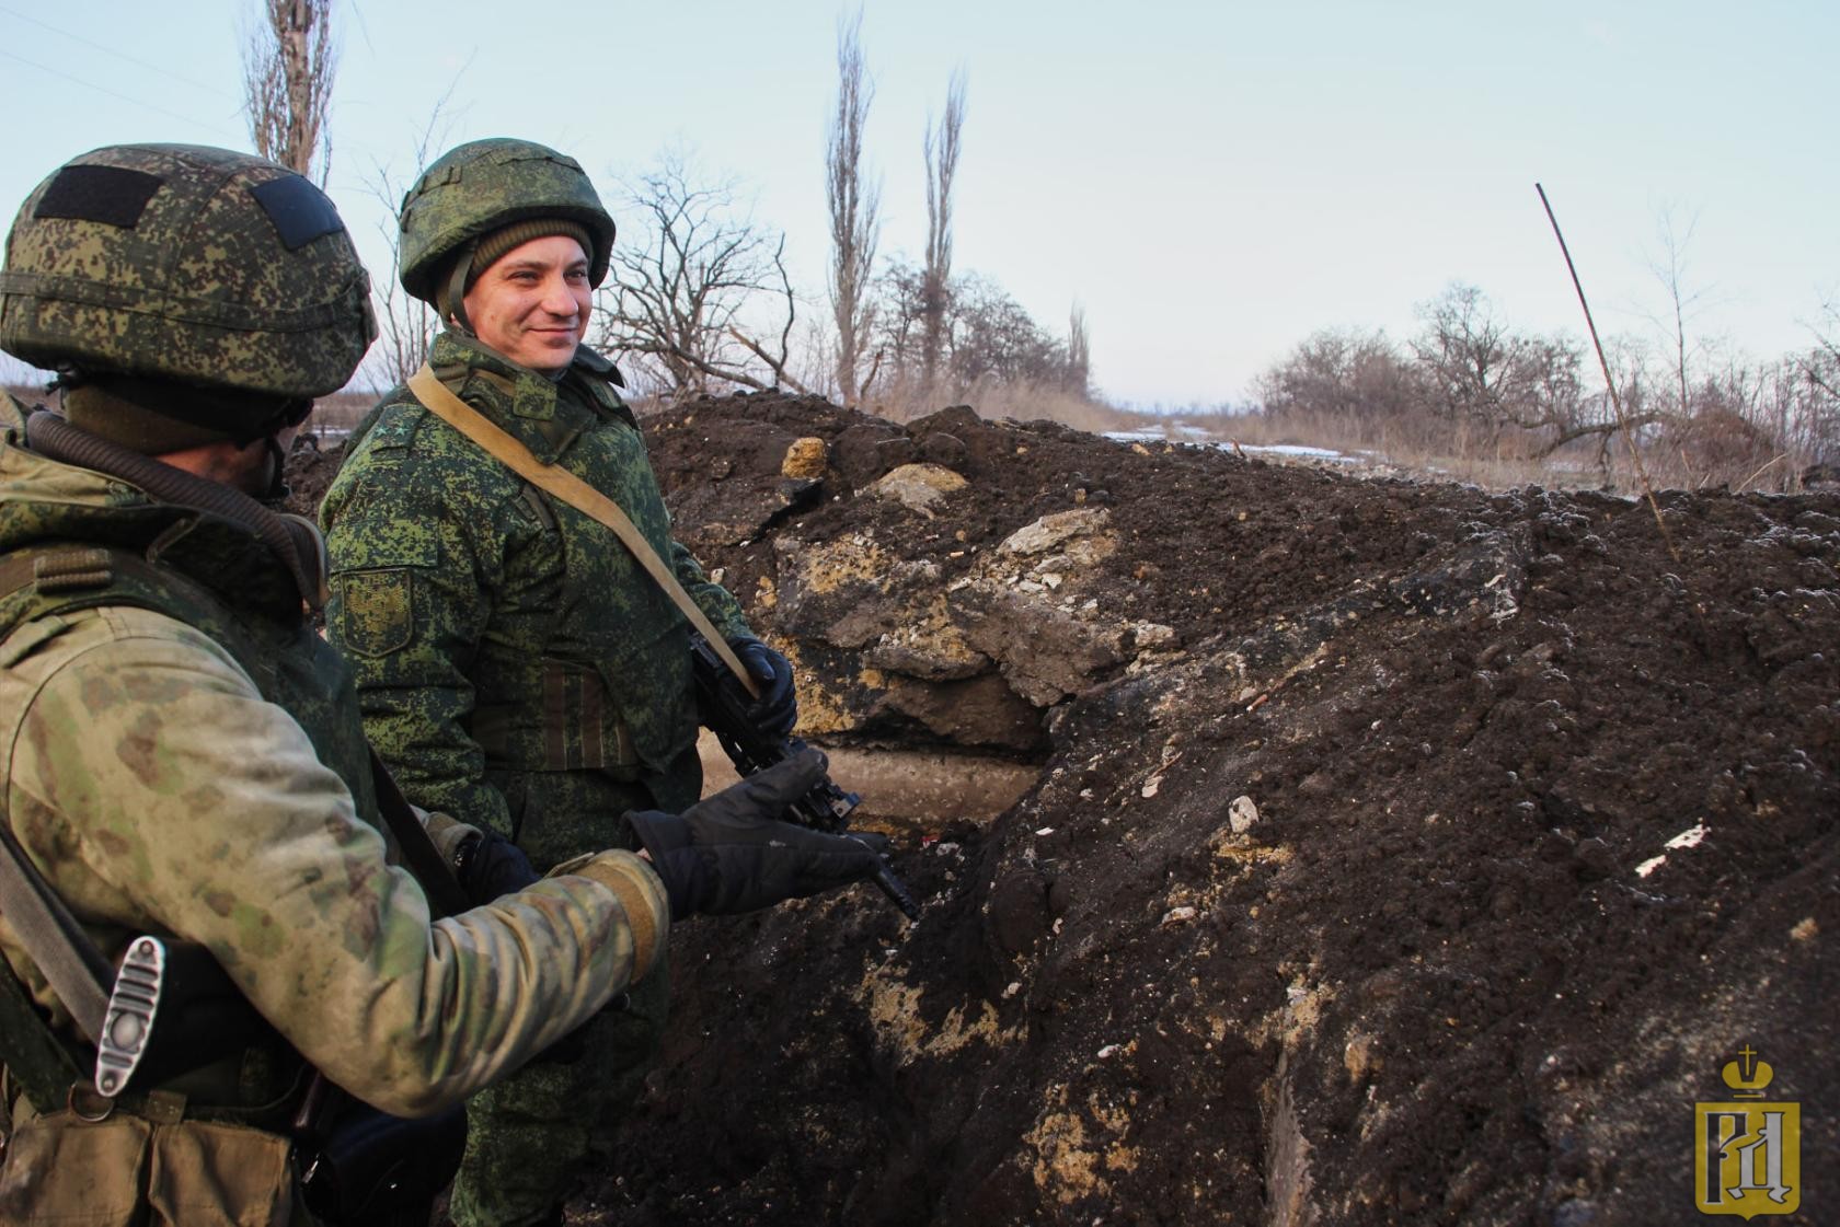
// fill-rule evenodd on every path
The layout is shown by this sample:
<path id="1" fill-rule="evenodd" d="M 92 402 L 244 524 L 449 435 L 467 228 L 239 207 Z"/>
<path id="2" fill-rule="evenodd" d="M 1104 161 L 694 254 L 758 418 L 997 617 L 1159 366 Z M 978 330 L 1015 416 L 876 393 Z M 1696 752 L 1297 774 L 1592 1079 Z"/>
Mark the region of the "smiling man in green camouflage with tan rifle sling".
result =
<path id="1" fill-rule="evenodd" d="M 539 460 L 611 497 L 793 723 L 791 673 L 672 541 L 615 366 L 580 346 L 613 221 L 580 166 L 517 140 L 462 145 L 408 191 L 401 281 L 447 326 L 434 375 Z M 353 660 L 364 725 L 408 797 L 489 815 L 546 868 L 613 837 L 622 809 L 701 789 L 683 614 L 602 524 L 526 484 L 407 388 L 350 443 L 320 519 L 328 635 Z M 559 1221 L 583 1159 L 664 1025 L 650 977 L 596 1021 L 574 1065 L 534 1065 L 471 1104 L 462 1227 Z"/>

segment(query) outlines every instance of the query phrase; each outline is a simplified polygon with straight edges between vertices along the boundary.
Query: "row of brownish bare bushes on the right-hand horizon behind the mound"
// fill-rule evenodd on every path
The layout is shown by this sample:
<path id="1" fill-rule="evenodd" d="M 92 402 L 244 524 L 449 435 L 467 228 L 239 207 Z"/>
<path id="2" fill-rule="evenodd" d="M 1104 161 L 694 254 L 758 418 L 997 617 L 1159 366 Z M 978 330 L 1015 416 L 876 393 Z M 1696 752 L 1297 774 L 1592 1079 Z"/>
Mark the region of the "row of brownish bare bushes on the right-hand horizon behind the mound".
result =
<path id="1" fill-rule="evenodd" d="M 1680 298 L 1674 298 L 1676 305 Z M 1608 473 L 1634 443 L 1673 484 L 1794 487 L 1840 462 L 1840 313 L 1801 353 L 1774 361 L 1606 346 L 1621 416 L 1595 355 L 1564 335 L 1511 327 L 1483 292 L 1452 285 L 1404 342 L 1321 331 L 1266 370 L 1257 412 L 1297 434 L 1419 454 L 1573 458 Z M 1674 316 L 1678 326 L 1680 316 Z"/>

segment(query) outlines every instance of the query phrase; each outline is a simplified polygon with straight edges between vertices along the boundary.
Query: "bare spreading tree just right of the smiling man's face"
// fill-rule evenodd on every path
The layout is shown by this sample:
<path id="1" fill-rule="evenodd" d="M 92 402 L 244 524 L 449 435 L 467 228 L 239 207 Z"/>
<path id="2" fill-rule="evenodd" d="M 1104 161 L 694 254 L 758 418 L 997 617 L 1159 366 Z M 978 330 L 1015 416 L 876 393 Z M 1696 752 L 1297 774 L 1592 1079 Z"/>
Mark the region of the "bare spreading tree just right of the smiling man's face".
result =
<path id="1" fill-rule="evenodd" d="M 699 184 L 679 151 L 627 184 L 626 204 L 638 217 L 626 232 L 637 241 L 615 247 L 598 344 L 673 397 L 718 384 L 806 392 L 788 370 L 797 298 L 786 235 L 738 206 L 732 180 Z M 764 294 L 776 302 L 773 348 L 751 327 Z"/>

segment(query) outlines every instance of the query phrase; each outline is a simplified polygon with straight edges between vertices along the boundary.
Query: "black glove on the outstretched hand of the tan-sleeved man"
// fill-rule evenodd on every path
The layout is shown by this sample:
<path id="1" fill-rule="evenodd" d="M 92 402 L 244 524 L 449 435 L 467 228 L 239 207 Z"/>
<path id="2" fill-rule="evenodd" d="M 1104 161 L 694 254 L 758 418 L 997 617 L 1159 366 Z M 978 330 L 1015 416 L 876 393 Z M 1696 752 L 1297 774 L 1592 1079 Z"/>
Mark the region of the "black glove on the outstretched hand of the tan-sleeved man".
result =
<path id="1" fill-rule="evenodd" d="M 806 749 L 681 815 L 627 813 L 664 879 L 672 920 L 751 912 L 872 877 L 889 846 L 881 835 L 826 835 L 778 820 L 824 767 L 824 756 Z"/>

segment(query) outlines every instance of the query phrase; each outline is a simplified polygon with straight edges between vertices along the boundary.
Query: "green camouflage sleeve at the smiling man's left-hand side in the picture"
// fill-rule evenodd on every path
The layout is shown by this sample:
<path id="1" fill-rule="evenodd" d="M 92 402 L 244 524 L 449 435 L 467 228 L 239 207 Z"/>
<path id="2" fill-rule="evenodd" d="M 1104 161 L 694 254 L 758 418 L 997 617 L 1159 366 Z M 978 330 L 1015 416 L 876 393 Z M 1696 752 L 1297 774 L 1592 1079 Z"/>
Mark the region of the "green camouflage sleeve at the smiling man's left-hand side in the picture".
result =
<path id="1" fill-rule="evenodd" d="M 484 751 L 467 732 L 466 664 L 510 548 L 497 484 L 454 478 L 421 456 L 361 454 L 348 467 L 322 508 L 326 636 L 357 677 L 364 732 L 418 806 L 510 835 L 504 795 L 484 780 Z"/>

